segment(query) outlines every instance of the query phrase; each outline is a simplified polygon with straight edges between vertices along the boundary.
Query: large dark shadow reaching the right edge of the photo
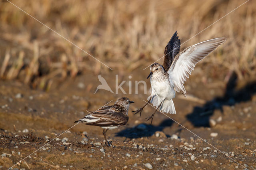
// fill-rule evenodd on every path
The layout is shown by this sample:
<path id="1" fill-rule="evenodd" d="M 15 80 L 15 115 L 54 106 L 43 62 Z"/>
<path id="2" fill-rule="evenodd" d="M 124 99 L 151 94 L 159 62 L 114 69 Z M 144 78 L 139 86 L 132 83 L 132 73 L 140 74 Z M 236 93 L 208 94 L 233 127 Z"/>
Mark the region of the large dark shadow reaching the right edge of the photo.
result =
<path id="1" fill-rule="evenodd" d="M 250 82 L 242 89 L 236 90 L 237 75 L 232 73 L 227 85 L 226 91 L 222 97 L 216 97 L 208 101 L 202 107 L 194 107 L 192 113 L 186 115 L 195 127 L 209 127 L 209 120 L 216 109 L 223 111 L 223 106 L 232 106 L 236 103 L 250 101 L 256 93 L 256 81 Z"/>

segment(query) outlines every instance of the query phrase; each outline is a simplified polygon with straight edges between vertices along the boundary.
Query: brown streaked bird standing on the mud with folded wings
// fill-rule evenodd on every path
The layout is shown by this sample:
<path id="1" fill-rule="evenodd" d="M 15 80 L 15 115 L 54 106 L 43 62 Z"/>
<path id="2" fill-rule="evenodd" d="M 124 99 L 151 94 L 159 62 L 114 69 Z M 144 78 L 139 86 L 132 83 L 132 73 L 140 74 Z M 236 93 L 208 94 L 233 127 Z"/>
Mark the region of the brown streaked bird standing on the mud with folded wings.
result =
<path id="1" fill-rule="evenodd" d="M 109 147 L 106 132 L 108 129 L 126 125 L 129 119 L 128 109 L 130 103 L 134 103 L 134 101 L 130 101 L 127 97 L 122 97 L 112 106 L 104 106 L 97 111 L 88 111 L 89 115 L 74 123 L 86 123 L 86 125 L 102 127 L 105 143 Z"/>

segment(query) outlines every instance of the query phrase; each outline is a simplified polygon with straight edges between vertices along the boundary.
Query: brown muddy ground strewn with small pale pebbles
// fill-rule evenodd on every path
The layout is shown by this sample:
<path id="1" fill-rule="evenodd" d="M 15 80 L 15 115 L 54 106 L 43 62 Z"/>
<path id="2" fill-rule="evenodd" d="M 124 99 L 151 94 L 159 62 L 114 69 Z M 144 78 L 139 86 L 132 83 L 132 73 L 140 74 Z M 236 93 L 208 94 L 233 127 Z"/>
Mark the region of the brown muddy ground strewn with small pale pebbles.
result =
<path id="1" fill-rule="evenodd" d="M 231 75 L 225 82 L 225 75 L 206 78 L 199 69 L 194 72 L 186 83 L 188 98 L 177 93 L 177 114 L 168 115 L 191 131 L 162 113 L 150 125 L 145 118 L 154 111 L 151 106 L 141 117 L 133 115 L 131 111 L 147 99 L 143 86 L 138 95 L 134 87 L 133 94 L 102 89 L 94 94 L 100 82 L 93 73 L 56 79 L 47 92 L 18 81 L 1 81 L 0 169 L 14 164 L 13 169 L 256 169 L 255 81 L 237 81 Z M 126 93 L 128 81 L 146 80 L 148 70 L 139 73 L 119 73 L 119 82 L 126 81 Z M 113 91 L 115 74 L 102 73 Z M 135 103 L 130 105 L 128 124 L 107 132 L 111 147 L 104 144 L 102 128 L 72 127 L 86 109 L 96 110 L 124 96 Z"/>

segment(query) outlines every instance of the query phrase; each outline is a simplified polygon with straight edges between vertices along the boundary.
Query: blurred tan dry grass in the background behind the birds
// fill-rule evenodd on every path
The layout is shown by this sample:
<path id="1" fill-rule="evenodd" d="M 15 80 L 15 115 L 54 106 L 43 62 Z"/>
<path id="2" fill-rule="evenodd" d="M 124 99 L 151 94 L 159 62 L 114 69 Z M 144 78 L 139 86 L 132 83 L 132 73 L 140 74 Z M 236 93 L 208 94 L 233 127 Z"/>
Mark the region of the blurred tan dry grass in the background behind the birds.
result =
<path id="1" fill-rule="evenodd" d="M 11 0 L 114 70 L 144 69 L 163 56 L 178 30 L 181 43 L 244 0 Z M 250 0 L 181 49 L 210 38 L 228 41 L 199 63 L 235 71 L 240 80 L 256 74 L 256 1 Z M 162 63 L 161 61 L 158 61 Z M 54 78 L 110 69 L 9 2 L 0 1 L 0 79 L 50 88 Z"/>

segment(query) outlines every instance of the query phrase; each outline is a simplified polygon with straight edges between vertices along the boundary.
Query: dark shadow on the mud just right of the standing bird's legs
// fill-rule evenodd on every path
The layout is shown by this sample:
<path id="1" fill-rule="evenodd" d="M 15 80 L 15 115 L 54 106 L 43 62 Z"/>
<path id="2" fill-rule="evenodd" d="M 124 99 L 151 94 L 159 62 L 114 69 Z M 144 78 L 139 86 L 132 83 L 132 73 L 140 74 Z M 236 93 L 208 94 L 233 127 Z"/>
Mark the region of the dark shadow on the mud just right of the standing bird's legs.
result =
<path id="1" fill-rule="evenodd" d="M 162 121 L 158 126 L 140 124 L 133 128 L 126 128 L 118 133 L 116 136 L 126 137 L 126 138 L 141 138 L 152 136 L 156 131 L 163 131 L 165 127 L 172 126 L 174 122 L 170 119 Z M 170 137 L 166 135 L 167 137 Z"/>

